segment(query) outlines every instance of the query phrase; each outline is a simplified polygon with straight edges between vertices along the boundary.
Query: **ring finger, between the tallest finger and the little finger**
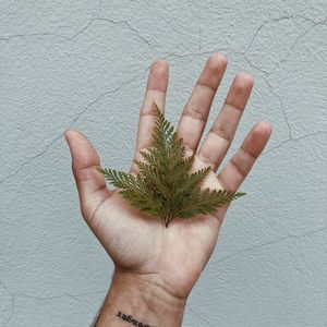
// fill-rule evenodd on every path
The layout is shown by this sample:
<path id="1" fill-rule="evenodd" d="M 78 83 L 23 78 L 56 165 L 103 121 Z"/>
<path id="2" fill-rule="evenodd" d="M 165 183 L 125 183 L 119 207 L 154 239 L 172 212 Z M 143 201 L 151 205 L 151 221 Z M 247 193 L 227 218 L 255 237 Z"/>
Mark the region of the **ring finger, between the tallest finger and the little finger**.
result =
<path id="1" fill-rule="evenodd" d="M 252 88 L 253 77 L 250 74 L 241 72 L 235 76 L 222 108 L 198 150 L 199 159 L 210 165 L 214 171 L 217 171 L 231 145 Z"/>

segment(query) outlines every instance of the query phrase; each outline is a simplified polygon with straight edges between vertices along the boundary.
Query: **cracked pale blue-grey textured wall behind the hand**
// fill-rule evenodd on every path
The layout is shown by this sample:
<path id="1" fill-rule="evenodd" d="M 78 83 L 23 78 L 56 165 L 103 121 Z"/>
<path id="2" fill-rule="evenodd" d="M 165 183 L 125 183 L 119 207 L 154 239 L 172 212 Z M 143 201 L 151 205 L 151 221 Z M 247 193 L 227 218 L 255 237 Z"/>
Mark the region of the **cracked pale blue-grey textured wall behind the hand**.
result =
<path id="1" fill-rule="evenodd" d="M 183 326 L 327 325 L 327 1 L 1 1 L 0 324 L 88 326 L 110 258 L 81 217 L 63 132 L 126 170 L 149 65 L 179 116 L 209 55 L 255 77 L 228 158 L 257 121 L 268 147 L 241 187 Z"/>

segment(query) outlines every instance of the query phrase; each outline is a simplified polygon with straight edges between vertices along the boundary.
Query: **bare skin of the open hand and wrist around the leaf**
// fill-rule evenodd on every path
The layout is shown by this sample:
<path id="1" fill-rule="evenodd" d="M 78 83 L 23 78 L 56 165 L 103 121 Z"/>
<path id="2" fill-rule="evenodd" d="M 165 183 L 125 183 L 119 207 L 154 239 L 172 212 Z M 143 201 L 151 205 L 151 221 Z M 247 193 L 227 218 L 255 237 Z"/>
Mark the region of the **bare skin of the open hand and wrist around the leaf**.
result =
<path id="1" fill-rule="evenodd" d="M 266 146 L 271 128 L 267 122 L 256 123 L 230 161 L 220 168 L 253 88 L 253 77 L 240 72 L 199 145 L 226 68 L 225 56 L 214 53 L 208 58 L 182 110 L 178 135 L 183 137 L 187 155 L 195 154 L 193 170 L 211 167 L 203 186 L 237 191 Z M 153 100 L 165 112 L 168 80 L 168 62 L 156 60 L 140 111 L 135 159 L 141 159 L 140 150 L 152 146 Z M 114 316 L 121 307 L 153 325 L 180 326 L 187 296 L 215 249 L 229 206 L 214 215 L 198 215 L 189 220 L 175 218 L 165 228 L 159 219 L 131 207 L 117 190 L 107 189 L 104 177 L 95 168 L 100 166 L 99 156 L 82 133 L 69 130 L 65 138 L 72 154 L 82 215 L 114 263 L 112 283 L 97 326 L 125 324 Z M 137 172 L 133 162 L 130 172 Z M 138 304 L 144 305 L 136 310 L 130 298 L 140 298 Z"/>

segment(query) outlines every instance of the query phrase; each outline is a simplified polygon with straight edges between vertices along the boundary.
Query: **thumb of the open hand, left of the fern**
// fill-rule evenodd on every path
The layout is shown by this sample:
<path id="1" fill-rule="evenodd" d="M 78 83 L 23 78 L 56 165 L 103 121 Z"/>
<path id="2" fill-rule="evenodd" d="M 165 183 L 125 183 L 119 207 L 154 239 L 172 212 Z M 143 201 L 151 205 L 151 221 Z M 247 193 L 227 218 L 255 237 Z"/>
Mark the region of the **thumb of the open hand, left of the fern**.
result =
<path id="1" fill-rule="evenodd" d="M 80 132 L 68 130 L 64 134 L 72 155 L 72 169 L 75 178 L 83 217 L 92 223 L 95 210 L 110 197 L 105 178 L 96 170 L 99 157 L 89 141 Z"/>

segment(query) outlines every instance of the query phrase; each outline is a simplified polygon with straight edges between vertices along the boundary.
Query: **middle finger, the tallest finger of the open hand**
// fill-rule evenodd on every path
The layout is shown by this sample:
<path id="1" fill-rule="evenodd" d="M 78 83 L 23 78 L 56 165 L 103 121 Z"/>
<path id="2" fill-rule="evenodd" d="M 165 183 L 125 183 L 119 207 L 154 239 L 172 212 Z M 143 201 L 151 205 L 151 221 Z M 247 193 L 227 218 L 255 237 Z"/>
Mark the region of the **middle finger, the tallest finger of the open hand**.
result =
<path id="1" fill-rule="evenodd" d="M 226 66 L 225 56 L 220 53 L 210 56 L 183 109 L 177 132 L 183 138 L 190 154 L 193 154 L 198 146 Z"/>

